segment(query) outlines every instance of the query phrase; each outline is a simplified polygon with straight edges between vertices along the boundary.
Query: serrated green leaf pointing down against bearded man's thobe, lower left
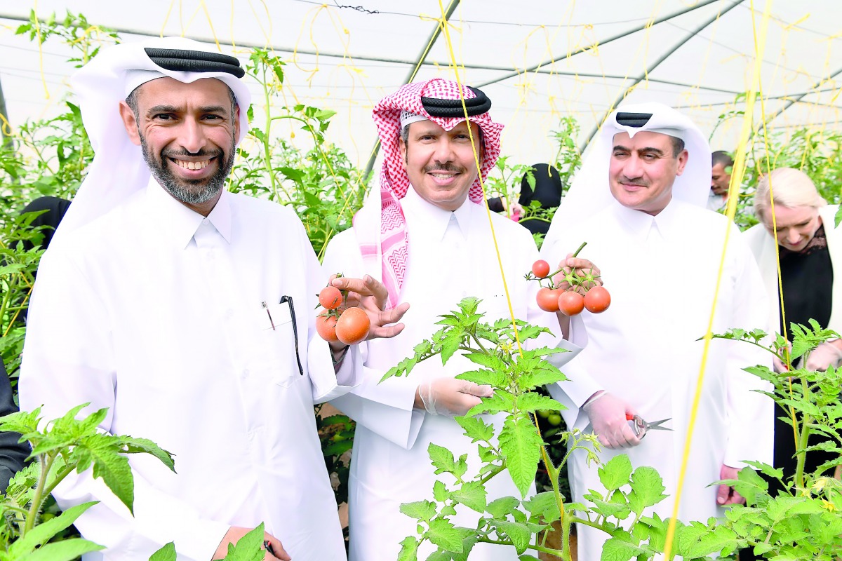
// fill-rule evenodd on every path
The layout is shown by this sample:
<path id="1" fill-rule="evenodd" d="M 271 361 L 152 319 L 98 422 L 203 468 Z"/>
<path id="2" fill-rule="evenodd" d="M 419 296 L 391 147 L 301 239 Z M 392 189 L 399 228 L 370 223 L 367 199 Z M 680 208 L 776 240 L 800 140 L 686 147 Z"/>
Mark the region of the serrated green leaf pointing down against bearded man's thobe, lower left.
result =
<path id="1" fill-rule="evenodd" d="M 93 463 L 93 477 L 102 478 L 104 484 L 134 515 L 135 480 L 129 459 L 117 453 L 117 447 L 111 442 L 113 438 L 101 434 L 85 437 L 73 448 L 70 456 L 78 462 L 79 473 Z"/>

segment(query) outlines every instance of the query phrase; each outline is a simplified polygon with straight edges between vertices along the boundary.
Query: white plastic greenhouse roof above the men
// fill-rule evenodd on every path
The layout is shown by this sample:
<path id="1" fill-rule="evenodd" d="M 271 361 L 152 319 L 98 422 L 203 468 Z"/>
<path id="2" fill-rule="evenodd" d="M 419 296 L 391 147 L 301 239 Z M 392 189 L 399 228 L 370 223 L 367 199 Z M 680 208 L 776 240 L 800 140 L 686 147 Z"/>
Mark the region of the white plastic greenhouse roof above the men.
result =
<path id="1" fill-rule="evenodd" d="M 714 150 L 733 150 L 753 87 L 755 54 L 774 130 L 839 127 L 842 79 L 842 2 L 774 0 L 763 40 L 766 3 L 760 0 L 6 0 L 0 3 L 0 83 L 9 119 L 57 111 L 72 64 L 57 40 L 42 45 L 14 29 L 37 6 L 40 18 L 68 8 L 90 24 L 134 34 L 216 38 L 245 59 L 248 46 L 274 49 L 287 61 L 285 103 L 337 112 L 329 140 L 365 166 L 376 131 L 374 103 L 406 82 L 428 46 L 438 19 L 453 8 L 448 33 L 429 48 L 416 80 L 462 79 L 493 100 L 506 124 L 504 154 L 514 163 L 552 159 L 552 130 L 571 115 L 585 146 L 605 114 L 624 97 L 659 101 L 690 114 Z M 448 36 L 450 41 L 448 40 Z M 235 46 L 232 46 L 235 45 Z M 316 55 L 318 53 L 318 55 Z M 252 84 L 253 93 L 258 93 Z M 49 93 L 49 98 L 46 97 Z M 259 99 L 259 98 L 258 98 Z M 714 130 L 722 114 L 733 114 Z M 280 131 L 288 134 L 290 130 Z"/>

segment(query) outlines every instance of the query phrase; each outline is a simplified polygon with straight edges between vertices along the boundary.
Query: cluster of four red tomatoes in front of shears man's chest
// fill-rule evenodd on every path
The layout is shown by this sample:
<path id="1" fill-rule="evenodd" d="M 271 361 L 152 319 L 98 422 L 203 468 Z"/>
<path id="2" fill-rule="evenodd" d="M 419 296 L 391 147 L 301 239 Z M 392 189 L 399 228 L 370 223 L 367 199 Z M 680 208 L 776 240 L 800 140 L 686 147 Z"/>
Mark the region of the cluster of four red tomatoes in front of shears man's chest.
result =
<path id="1" fill-rule="evenodd" d="M 561 271 L 557 273 L 561 273 Z M 542 278 L 550 277 L 550 264 L 543 259 L 539 259 L 532 264 L 532 274 L 539 281 Z M 608 306 L 611 304 L 611 295 L 605 287 L 597 284 L 593 277 L 590 275 L 578 277 L 570 274 L 567 275 L 566 280 L 571 285 L 567 290 L 555 287 L 538 289 L 536 300 L 541 310 L 546 312 L 560 311 L 564 315 L 578 315 L 582 313 L 582 310 L 599 314 L 608 310 Z"/>

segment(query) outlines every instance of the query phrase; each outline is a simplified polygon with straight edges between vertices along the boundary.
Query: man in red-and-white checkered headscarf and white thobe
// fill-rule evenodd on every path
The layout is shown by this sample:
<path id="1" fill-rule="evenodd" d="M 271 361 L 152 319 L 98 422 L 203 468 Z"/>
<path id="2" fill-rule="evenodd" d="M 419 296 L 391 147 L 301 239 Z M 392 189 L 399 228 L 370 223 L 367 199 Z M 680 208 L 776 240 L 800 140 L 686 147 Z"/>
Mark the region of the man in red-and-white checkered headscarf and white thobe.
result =
<path id="1" fill-rule="evenodd" d="M 472 138 L 480 146 L 479 174 L 484 178 L 497 160 L 503 127 L 491 120 L 487 113 L 491 103 L 482 92 L 463 88 L 462 95 Z M 488 386 L 454 379 L 475 369 L 473 363 L 456 355 L 442 367 L 432 359 L 419 363 L 408 377 L 378 384 L 386 370 L 412 356 L 413 347 L 438 330 L 439 315 L 456 309 L 462 298 L 482 299 L 480 311 L 486 320 L 509 318 L 463 111 L 458 86 L 442 79 L 408 84 L 376 105 L 374 118 L 384 151 L 381 192 L 374 193 L 354 218 L 354 229 L 336 236 L 325 254 L 329 271 L 375 275 L 390 287 L 390 295 L 397 295 L 392 304 L 411 305 L 408 329 L 388 345 L 364 344 L 363 383 L 353 394 L 333 400 L 357 421 L 349 476 L 349 558 L 354 561 L 397 558 L 399 543 L 417 533 L 416 521 L 402 515 L 400 505 L 432 500 L 436 479 L 452 483 L 447 476 L 434 474 L 430 443 L 447 447 L 457 458 L 467 454 L 469 474 L 476 474 L 479 467 L 477 444 L 452 418 L 477 405 L 479 396 L 488 396 Z M 497 214 L 491 214 L 491 224 L 515 317 L 559 334 L 557 316 L 537 308 L 538 283 L 524 280 L 537 257 L 530 232 Z M 393 267 L 395 263 L 399 266 Z M 584 260 L 568 264 L 593 267 Z M 581 325 L 578 329 L 574 325 L 573 332 L 582 333 Z M 561 336 L 548 336 L 540 345 L 578 349 Z M 556 355 L 557 364 L 572 354 Z M 487 416 L 498 430 L 502 420 Z M 487 490 L 489 502 L 504 495 L 520 496 L 508 473 L 489 480 Z M 476 527 L 477 513 L 459 511 L 453 521 Z M 418 558 L 434 550 L 425 542 Z M 514 548 L 483 543 L 469 556 L 471 561 L 517 558 Z"/>

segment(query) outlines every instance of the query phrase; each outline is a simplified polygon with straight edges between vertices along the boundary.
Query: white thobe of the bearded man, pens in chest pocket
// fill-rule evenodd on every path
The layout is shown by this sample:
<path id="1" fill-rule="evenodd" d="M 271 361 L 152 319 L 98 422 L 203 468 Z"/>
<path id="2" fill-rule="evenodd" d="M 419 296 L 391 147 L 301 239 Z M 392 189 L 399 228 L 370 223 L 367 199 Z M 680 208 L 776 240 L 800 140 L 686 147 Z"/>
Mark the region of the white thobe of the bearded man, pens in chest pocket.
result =
<path id="1" fill-rule="evenodd" d="M 89 558 L 147 559 L 174 541 L 179 559 L 209 561 L 228 527 L 261 521 L 296 561 L 345 558 L 312 405 L 347 391 L 337 377 L 355 384 L 361 363 L 353 351 L 334 374 L 316 335 L 326 280 L 291 209 L 222 193 L 204 218 L 154 181 L 51 246 L 21 408 L 108 407 L 104 431 L 152 439 L 177 471 L 130 456 L 134 518 L 89 471 L 61 484 L 62 508 L 101 501 L 77 521 L 108 548 Z"/>

